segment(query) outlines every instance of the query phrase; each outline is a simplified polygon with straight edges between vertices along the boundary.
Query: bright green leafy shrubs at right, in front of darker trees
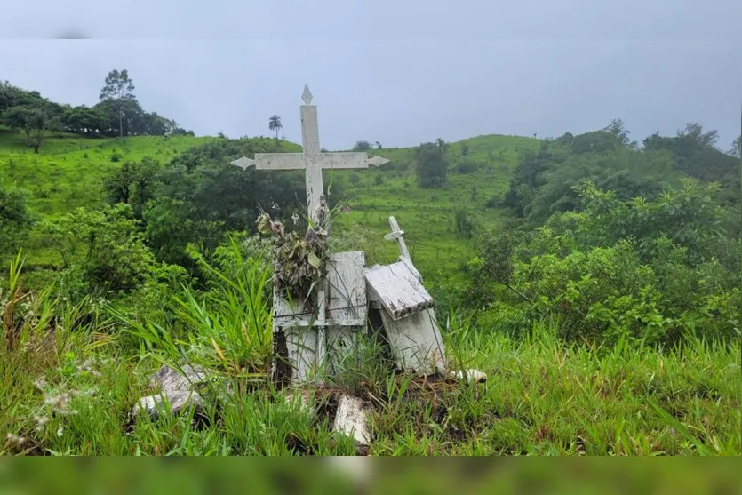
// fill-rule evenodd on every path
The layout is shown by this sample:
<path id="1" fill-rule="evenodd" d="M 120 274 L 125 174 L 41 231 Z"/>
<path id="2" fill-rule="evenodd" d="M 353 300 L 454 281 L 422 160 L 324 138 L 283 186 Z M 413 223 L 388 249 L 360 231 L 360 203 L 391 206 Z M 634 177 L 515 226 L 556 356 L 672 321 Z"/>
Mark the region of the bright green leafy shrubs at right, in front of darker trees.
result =
<path id="1" fill-rule="evenodd" d="M 496 282 L 513 303 L 503 321 L 555 319 L 567 339 L 738 339 L 742 281 L 729 253 L 740 247 L 722 228 L 718 188 L 688 180 L 654 201 L 620 201 L 589 182 L 575 190 L 582 212 L 485 244 L 469 266 L 473 300 Z"/>

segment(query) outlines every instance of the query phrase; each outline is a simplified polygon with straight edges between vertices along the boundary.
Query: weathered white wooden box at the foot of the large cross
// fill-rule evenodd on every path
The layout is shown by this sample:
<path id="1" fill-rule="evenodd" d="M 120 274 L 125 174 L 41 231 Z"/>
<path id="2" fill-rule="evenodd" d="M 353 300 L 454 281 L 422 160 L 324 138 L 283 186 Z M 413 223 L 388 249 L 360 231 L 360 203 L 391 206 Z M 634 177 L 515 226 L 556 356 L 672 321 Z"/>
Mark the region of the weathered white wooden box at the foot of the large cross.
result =
<path id="1" fill-rule="evenodd" d="M 364 264 L 363 251 L 330 255 L 326 318 L 309 314 L 299 301 L 292 306 L 275 293 L 274 331 L 286 336 L 293 381 L 315 379 L 317 371 L 335 367 L 355 348 L 357 333 L 365 328 L 368 316 Z"/>

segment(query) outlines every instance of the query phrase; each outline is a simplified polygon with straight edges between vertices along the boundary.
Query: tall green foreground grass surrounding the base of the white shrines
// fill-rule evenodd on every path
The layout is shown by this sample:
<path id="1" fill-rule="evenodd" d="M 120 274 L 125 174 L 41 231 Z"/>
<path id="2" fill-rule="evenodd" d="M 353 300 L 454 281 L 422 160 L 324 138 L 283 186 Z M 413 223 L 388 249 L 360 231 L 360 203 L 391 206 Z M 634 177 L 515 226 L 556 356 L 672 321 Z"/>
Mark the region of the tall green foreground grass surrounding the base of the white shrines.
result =
<path id="1" fill-rule="evenodd" d="M 740 453 L 738 342 L 598 352 L 564 343 L 547 324 L 516 341 L 453 312 L 442 325 L 449 361 L 485 371 L 485 384 L 395 375 L 377 359 L 378 344 L 362 339 L 362 358 L 310 391 L 313 415 L 267 383 L 268 273 L 259 257 L 229 249 L 237 262 L 203 267 L 208 291 L 183 288 L 163 301 L 172 322 L 116 310 L 86 319 L 52 291 L 19 291 L 15 259 L 0 294 L 0 453 L 353 454 L 352 439 L 331 428 L 339 388 L 370 407 L 371 454 Z M 132 405 L 154 393 L 148 375 L 163 363 L 211 370 L 205 424 L 131 417 Z"/>

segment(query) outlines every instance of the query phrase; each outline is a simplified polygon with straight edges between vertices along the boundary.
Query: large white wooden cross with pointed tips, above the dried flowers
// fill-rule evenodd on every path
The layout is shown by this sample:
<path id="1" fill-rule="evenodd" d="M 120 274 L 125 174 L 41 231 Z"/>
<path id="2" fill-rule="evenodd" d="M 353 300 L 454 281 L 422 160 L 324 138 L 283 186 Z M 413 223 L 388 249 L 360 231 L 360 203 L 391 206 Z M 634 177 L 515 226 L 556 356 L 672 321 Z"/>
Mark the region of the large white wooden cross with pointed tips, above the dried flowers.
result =
<path id="1" fill-rule="evenodd" d="M 388 160 L 380 156 L 369 158 L 362 153 L 322 153 L 320 150 L 317 107 L 311 105 L 312 93 L 307 84 L 301 95 L 301 145 L 302 153 L 256 153 L 251 160 L 243 156 L 232 162 L 233 165 L 247 169 L 255 165 L 256 170 L 301 170 L 307 180 L 307 206 L 309 217 L 317 220 L 320 199 L 323 196 L 322 169 L 364 169 L 369 165 L 379 166 Z"/>

